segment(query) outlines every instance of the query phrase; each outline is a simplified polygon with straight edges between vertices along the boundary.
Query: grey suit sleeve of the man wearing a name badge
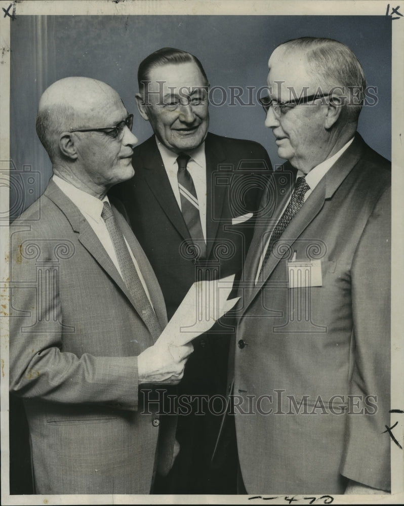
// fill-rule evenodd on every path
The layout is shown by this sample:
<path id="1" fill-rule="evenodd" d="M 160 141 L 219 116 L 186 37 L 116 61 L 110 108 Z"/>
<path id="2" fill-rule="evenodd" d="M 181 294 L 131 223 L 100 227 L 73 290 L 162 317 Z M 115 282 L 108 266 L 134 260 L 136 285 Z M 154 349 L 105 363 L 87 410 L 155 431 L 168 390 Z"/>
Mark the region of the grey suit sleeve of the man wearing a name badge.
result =
<path id="1" fill-rule="evenodd" d="M 357 409 L 351 408 L 347 416 L 341 469 L 350 480 L 381 490 L 390 490 L 390 437 L 384 433 L 390 421 L 390 198 L 389 189 L 363 230 L 352 264 L 350 395 L 360 396 L 352 397 L 353 402 L 365 399 L 365 412 L 355 414 Z"/>

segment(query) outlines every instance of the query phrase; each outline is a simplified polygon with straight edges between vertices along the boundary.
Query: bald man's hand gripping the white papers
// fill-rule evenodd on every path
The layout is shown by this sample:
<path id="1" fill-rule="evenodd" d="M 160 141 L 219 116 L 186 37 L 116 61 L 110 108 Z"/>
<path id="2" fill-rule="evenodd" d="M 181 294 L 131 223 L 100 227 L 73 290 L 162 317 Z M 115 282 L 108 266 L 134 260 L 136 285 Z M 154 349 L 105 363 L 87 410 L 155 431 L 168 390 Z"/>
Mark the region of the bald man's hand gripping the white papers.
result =
<path id="1" fill-rule="evenodd" d="M 191 343 L 183 346 L 156 343 L 150 346 L 138 356 L 139 384 L 177 385 L 184 375 L 185 363 L 192 352 Z"/>

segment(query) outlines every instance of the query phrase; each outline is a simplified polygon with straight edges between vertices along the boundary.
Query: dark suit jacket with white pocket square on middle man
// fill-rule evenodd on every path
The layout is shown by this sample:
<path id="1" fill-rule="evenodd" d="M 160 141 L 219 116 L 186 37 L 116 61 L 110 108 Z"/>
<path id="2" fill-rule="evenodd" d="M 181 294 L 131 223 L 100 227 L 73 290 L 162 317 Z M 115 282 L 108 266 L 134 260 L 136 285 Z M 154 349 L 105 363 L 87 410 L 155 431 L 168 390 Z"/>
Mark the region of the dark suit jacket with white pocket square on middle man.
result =
<path id="1" fill-rule="evenodd" d="M 195 257 L 192 248 L 187 246 L 191 238 L 154 137 L 134 149 L 133 179 L 114 187 L 156 274 L 169 319 L 194 281 L 240 275 L 265 179 L 270 174 L 268 154 L 256 142 L 209 133 L 205 155 L 205 260 Z M 244 218 L 234 220 L 238 217 Z M 191 409 L 180 411 L 180 414 L 187 413 L 178 419 L 176 437 L 181 451 L 167 483 L 161 488 L 165 493 L 222 493 L 220 487 L 212 487 L 215 480 L 220 480 L 219 471 L 216 469 L 215 476 L 210 475 L 220 417 L 211 414 L 200 399 L 225 392 L 228 347 L 233 331 L 233 319 L 225 316 L 209 333 L 193 340 L 194 351 L 176 388 L 176 394 L 184 396 Z M 223 468 L 228 475 L 227 464 Z M 227 490 L 224 483 L 223 490 Z"/>

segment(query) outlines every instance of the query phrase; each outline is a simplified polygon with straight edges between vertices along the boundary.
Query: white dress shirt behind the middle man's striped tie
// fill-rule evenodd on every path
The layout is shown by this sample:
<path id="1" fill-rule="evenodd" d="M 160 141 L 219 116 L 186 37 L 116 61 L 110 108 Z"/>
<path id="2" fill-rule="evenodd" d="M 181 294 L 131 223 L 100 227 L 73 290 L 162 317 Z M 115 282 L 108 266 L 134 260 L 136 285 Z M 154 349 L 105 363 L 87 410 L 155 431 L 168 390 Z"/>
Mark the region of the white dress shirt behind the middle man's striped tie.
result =
<path id="1" fill-rule="evenodd" d="M 164 168 L 166 169 L 171 188 L 173 189 L 177 204 L 181 209 L 180 190 L 178 188 L 178 154 L 168 149 L 164 144 L 156 139 L 157 148 L 163 159 Z M 184 151 L 185 152 L 185 151 Z M 193 185 L 196 191 L 196 197 L 199 204 L 199 217 L 202 226 L 202 233 L 206 242 L 206 156 L 205 156 L 205 142 L 192 151 L 186 151 L 186 154 L 191 158 L 187 163 L 187 169 L 191 175 Z"/>

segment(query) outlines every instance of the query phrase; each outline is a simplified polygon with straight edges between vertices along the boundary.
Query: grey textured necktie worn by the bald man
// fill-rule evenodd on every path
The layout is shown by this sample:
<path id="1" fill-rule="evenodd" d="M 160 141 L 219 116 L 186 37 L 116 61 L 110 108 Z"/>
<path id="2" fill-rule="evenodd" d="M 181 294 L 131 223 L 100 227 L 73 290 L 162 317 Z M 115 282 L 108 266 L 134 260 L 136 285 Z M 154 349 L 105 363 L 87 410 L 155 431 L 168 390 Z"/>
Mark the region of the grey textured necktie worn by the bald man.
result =
<path id="1" fill-rule="evenodd" d="M 124 234 L 116 223 L 115 216 L 108 202 L 104 202 L 101 218 L 104 220 L 113 247 L 115 249 L 116 258 L 118 259 L 119 269 L 132 299 L 142 308 L 142 317 L 150 330 L 154 339 L 157 339 L 161 333 L 161 327 L 158 323 L 157 316 L 147 298 L 142 282 L 133 264 L 133 260 L 129 253 L 128 246 L 125 242 Z"/>

